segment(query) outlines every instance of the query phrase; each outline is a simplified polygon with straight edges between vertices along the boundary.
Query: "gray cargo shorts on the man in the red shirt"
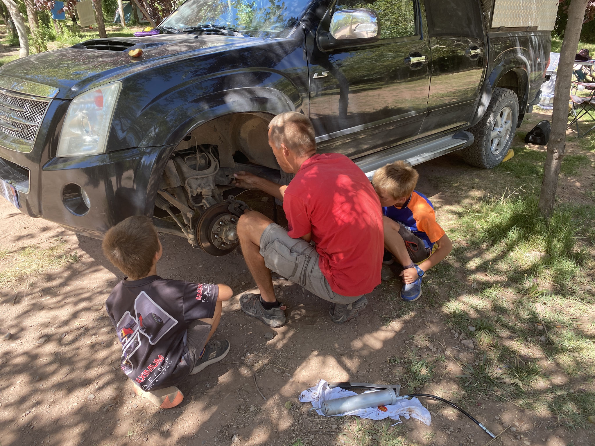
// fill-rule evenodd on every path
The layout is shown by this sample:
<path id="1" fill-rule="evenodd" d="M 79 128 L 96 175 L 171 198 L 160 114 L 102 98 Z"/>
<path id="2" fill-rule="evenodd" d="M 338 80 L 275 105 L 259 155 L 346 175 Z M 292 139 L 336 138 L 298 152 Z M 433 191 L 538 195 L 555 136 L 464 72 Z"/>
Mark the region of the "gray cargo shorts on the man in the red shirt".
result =
<path id="1" fill-rule="evenodd" d="M 260 253 L 268 269 L 277 272 L 287 280 L 302 285 L 324 300 L 332 303 L 350 304 L 363 296 L 342 296 L 331 290 L 327 278 L 318 266 L 318 253 L 314 245 L 302 238 L 289 237 L 287 231 L 271 223 L 263 231 Z"/>

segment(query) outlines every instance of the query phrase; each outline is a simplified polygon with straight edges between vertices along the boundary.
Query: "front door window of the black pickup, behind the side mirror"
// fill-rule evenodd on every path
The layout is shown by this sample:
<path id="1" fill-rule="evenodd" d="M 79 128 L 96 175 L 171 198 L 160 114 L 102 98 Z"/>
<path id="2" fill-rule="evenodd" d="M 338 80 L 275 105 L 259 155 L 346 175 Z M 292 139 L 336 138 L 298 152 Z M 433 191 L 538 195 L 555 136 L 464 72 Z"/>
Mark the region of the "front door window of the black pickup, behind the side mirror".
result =
<path id="1" fill-rule="evenodd" d="M 338 0 L 335 10 L 367 8 L 378 14 L 380 38 L 396 39 L 418 34 L 413 0 Z"/>

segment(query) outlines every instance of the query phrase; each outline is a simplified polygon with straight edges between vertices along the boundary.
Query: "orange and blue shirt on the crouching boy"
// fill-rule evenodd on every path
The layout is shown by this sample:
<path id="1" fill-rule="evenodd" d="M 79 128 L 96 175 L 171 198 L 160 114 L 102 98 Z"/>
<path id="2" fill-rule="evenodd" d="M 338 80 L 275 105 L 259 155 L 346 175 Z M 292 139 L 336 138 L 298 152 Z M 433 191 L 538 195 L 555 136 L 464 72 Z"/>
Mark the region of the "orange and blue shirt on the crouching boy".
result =
<path id="1" fill-rule="evenodd" d="M 434 205 L 417 190 L 413 191 L 402 208 L 383 207 L 382 212 L 421 238 L 428 249 L 432 249 L 434 243 L 444 235 L 444 230 L 436 222 Z"/>

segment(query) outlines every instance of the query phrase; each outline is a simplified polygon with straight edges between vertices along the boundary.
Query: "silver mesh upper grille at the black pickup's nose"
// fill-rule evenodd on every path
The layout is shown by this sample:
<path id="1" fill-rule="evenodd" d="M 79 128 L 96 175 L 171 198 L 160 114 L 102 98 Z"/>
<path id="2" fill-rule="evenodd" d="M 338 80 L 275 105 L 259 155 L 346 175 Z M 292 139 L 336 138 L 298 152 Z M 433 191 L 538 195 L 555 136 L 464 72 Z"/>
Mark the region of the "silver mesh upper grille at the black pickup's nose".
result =
<path id="1" fill-rule="evenodd" d="M 49 106 L 47 99 L 25 98 L 0 91 L 0 132 L 33 143 Z"/>

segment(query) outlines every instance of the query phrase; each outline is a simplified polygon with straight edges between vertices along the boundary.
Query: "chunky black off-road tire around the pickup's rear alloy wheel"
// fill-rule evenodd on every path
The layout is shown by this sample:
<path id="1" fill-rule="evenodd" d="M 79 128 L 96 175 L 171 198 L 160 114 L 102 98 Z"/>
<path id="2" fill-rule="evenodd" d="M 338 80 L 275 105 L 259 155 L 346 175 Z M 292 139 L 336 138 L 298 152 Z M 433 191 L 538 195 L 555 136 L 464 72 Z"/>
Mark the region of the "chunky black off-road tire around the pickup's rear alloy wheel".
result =
<path id="1" fill-rule="evenodd" d="M 490 133 L 493 124 L 493 112 L 505 99 L 512 99 L 516 102 L 516 117 L 518 119 L 518 98 L 516 97 L 516 93 L 508 88 L 495 88 L 494 93 L 491 96 L 490 104 L 487 106 L 483 117 L 477 124 L 468 130 L 475 137 L 475 141 L 471 146 L 461 150 L 463 159 L 467 164 L 482 169 L 491 169 L 500 164 L 502 159 L 506 156 L 508 150 L 502 150 L 502 152 L 499 153 L 500 159 L 494 161 L 493 159 L 490 159 L 487 153 L 488 150 L 490 150 Z M 512 126 L 512 131 L 514 132 L 516 130 L 516 123 L 513 123 Z"/>

